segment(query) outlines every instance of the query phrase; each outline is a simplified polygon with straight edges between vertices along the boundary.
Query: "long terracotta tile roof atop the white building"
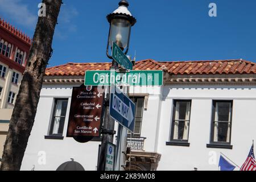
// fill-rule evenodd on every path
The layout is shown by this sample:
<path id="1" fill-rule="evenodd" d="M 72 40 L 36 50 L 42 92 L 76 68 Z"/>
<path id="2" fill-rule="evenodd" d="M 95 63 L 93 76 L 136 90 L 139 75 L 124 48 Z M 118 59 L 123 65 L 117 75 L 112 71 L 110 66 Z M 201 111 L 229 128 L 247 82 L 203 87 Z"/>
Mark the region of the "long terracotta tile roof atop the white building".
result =
<path id="1" fill-rule="evenodd" d="M 46 76 L 84 76 L 85 71 L 109 70 L 111 63 L 68 63 L 46 69 Z M 164 70 L 171 75 L 256 74 L 256 63 L 246 60 L 137 61 L 134 70 Z"/>

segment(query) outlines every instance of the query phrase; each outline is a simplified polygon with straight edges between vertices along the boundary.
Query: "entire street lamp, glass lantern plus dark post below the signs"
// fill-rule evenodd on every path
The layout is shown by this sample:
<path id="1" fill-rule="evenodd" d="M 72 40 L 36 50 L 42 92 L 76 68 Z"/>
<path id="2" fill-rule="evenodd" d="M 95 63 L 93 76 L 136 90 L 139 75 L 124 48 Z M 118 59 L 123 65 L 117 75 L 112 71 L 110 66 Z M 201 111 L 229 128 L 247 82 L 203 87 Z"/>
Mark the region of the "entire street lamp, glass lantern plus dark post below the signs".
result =
<path id="1" fill-rule="evenodd" d="M 118 70 L 118 63 L 117 61 L 113 60 L 113 57 L 109 54 L 109 47 L 112 48 L 114 42 L 122 49 L 122 51 L 126 49 L 125 54 L 127 54 L 129 51 L 131 27 L 136 23 L 136 19 L 128 10 L 129 3 L 122 0 L 118 5 L 119 7 L 117 10 L 106 16 L 108 22 L 110 23 L 106 54 L 109 59 L 112 59 L 112 67 L 110 68 L 110 71 L 114 72 Z M 109 88 L 109 93 L 106 94 L 105 119 L 104 127 L 102 129 L 102 142 L 98 171 L 105 171 L 106 145 L 108 142 L 113 143 L 113 135 L 115 134 L 114 119 L 109 116 L 110 91 L 111 90 Z"/>

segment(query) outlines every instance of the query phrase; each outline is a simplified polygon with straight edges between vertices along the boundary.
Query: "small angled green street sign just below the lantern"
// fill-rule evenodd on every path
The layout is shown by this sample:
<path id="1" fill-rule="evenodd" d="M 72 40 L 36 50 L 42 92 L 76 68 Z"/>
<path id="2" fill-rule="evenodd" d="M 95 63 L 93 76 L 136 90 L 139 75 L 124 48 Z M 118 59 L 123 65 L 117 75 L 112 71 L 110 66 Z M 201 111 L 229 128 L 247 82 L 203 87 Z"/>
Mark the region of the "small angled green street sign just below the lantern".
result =
<path id="1" fill-rule="evenodd" d="M 125 53 L 123 53 L 122 49 L 114 42 L 112 47 L 112 57 L 123 68 L 133 70 L 133 63 L 131 63 Z"/>

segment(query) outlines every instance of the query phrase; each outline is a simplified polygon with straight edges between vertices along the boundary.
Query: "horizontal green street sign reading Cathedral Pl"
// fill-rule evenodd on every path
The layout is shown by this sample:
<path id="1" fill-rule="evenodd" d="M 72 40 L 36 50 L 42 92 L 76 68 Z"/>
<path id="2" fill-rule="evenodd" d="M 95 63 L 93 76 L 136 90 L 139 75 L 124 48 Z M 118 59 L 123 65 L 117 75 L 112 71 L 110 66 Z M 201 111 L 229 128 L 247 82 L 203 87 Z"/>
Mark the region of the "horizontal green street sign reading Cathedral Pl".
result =
<path id="1" fill-rule="evenodd" d="M 130 71 L 118 73 L 115 71 L 86 71 L 85 86 L 161 86 L 163 71 Z"/>

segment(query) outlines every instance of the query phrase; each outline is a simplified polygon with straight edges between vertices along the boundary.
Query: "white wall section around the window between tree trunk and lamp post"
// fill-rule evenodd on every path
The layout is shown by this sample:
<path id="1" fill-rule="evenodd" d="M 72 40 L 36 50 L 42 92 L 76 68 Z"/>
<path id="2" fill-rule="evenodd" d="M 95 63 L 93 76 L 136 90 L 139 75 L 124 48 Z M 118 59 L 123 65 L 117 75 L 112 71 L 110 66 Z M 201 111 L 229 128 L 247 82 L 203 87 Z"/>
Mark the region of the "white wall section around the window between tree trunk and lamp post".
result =
<path id="1" fill-rule="evenodd" d="M 60 164 L 69 161 L 71 158 L 79 162 L 85 170 L 95 170 L 97 166 L 98 144 L 100 142 L 79 143 L 73 138 L 65 137 L 68 126 L 69 107 L 71 102 L 72 89 L 69 86 L 63 88 L 44 88 L 38 105 L 35 123 L 28 140 L 28 146 L 22 162 L 22 170 L 56 170 Z M 53 98 L 69 98 L 67 115 L 63 131 L 63 140 L 44 139 L 48 134 L 51 121 Z M 38 153 L 46 152 L 46 165 L 40 165 Z"/>

